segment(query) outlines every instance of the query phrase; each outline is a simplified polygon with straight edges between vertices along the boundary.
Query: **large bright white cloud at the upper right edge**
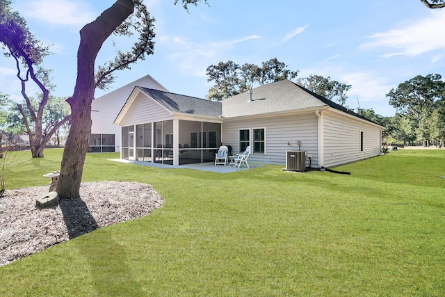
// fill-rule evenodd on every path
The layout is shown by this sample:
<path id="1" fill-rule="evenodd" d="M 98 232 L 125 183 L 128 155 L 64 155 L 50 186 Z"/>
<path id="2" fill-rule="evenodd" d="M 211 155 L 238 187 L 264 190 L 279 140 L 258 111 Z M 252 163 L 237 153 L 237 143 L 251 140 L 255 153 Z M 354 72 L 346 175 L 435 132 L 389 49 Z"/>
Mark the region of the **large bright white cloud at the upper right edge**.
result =
<path id="1" fill-rule="evenodd" d="M 429 18 L 400 29 L 391 29 L 370 36 L 373 41 L 360 46 L 360 49 L 394 49 L 383 56 L 419 56 L 429 51 L 445 49 L 445 10 L 432 11 Z"/>

